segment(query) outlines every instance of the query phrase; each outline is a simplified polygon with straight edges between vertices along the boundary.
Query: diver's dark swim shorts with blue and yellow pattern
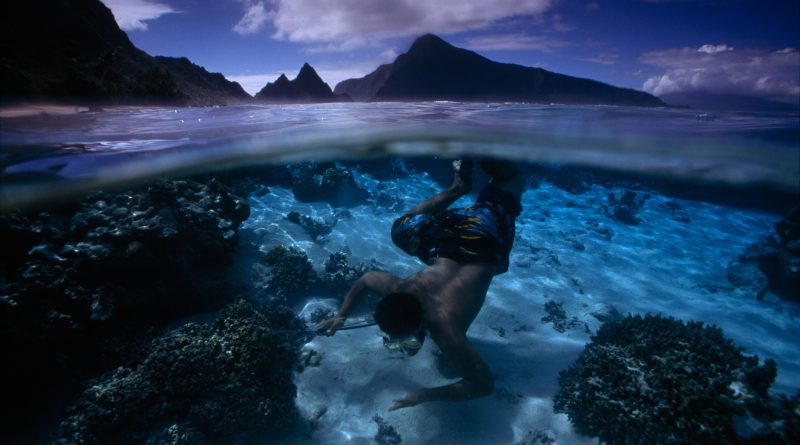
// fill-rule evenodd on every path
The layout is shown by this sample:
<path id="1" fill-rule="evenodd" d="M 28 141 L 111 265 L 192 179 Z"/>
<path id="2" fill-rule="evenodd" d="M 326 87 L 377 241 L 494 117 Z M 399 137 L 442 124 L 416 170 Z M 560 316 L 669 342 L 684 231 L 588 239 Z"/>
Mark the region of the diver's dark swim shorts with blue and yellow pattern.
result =
<path id="1" fill-rule="evenodd" d="M 459 263 L 488 263 L 508 270 L 519 200 L 489 184 L 475 204 L 436 213 L 403 215 L 392 225 L 392 241 L 425 263 L 444 257 Z"/>

